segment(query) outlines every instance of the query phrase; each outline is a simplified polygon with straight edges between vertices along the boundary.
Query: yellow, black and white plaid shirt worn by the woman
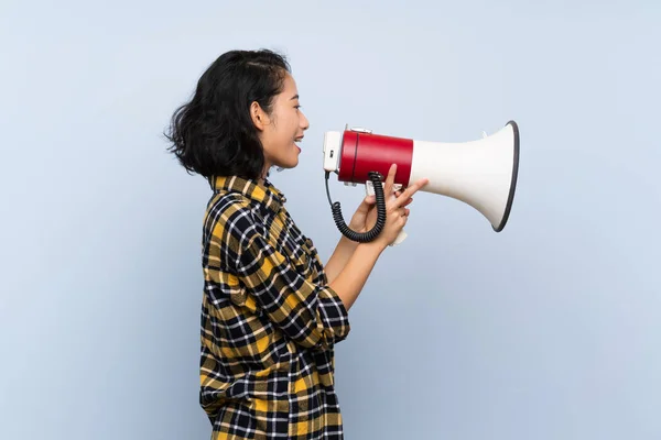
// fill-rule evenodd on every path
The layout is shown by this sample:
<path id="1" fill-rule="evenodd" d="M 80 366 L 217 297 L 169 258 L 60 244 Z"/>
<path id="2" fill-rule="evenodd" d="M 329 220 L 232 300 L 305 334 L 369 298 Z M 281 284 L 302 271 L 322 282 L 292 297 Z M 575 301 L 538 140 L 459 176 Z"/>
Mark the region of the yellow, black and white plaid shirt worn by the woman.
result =
<path id="1" fill-rule="evenodd" d="M 347 310 L 268 180 L 210 180 L 199 403 L 213 439 L 343 439 L 334 344 Z"/>

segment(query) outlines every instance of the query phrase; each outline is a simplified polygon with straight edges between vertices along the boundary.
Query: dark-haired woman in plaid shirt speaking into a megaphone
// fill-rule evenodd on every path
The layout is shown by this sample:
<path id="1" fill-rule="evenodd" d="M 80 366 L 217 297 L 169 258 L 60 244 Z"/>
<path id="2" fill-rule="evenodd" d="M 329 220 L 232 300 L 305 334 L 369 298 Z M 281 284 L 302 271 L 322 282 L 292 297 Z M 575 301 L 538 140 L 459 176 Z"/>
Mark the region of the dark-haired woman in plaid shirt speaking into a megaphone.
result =
<path id="1" fill-rule="evenodd" d="M 313 242 L 269 180 L 293 168 L 308 121 L 284 57 L 231 51 L 201 77 L 167 138 L 213 195 L 204 216 L 201 405 L 213 439 L 340 439 L 334 345 L 349 332 L 348 310 L 381 252 L 407 223 L 421 180 L 388 201 L 377 240 L 342 238 L 321 263 Z M 393 165 L 384 190 L 391 194 Z M 371 229 L 366 198 L 349 227 Z"/>

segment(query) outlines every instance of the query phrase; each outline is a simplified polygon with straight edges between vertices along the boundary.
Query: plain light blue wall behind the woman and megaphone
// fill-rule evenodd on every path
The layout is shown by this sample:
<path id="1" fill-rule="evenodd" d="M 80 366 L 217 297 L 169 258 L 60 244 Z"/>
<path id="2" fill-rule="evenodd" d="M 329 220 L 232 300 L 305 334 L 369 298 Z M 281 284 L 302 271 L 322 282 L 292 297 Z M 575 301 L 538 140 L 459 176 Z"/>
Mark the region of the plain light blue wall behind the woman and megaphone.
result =
<path id="1" fill-rule="evenodd" d="M 351 310 L 347 439 L 661 438 L 659 2 L 97 3 L 0 7 L 1 439 L 208 438 L 209 193 L 161 133 L 237 47 L 293 65 L 312 125 L 273 180 L 324 257 L 324 131 L 520 124 L 507 229 L 419 194 Z"/>

